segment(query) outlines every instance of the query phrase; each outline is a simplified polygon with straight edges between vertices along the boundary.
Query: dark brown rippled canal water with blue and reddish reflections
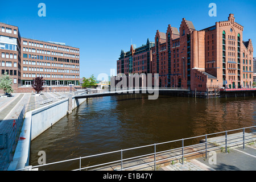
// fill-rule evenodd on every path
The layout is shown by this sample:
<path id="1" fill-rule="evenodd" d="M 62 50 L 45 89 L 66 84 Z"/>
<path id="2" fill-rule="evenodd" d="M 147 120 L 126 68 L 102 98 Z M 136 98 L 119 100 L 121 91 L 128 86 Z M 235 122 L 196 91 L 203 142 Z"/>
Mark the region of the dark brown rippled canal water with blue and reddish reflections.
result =
<path id="1" fill-rule="evenodd" d="M 46 163 L 52 163 L 255 125 L 253 97 L 207 100 L 160 96 L 148 100 L 147 95 L 137 94 L 93 98 L 31 142 L 30 164 L 38 165 L 39 151 L 46 152 Z M 187 144 L 192 143 L 199 143 L 199 139 Z M 158 150 L 180 147 L 180 143 L 166 147 Z M 123 158 L 151 152 L 154 148 L 142 148 L 123 154 Z M 82 167 L 120 159 L 120 153 L 84 159 Z M 40 169 L 77 168 L 79 160 Z"/>

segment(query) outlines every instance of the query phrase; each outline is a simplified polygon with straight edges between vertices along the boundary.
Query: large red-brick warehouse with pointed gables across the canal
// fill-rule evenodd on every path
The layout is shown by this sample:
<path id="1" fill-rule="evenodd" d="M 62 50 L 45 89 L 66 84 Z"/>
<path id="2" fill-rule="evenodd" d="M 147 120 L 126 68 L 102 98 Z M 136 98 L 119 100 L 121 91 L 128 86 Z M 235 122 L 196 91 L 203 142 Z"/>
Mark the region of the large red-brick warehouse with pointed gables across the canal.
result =
<path id="1" fill-rule="evenodd" d="M 145 49 L 150 56 L 147 73 L 159 74 L 160 87 L 193 91 L 251 88 L 253 44 L 251 39 L 243 41 L 243 27 L 234 19 L 230 14 L 228 20 L 197 31 L 191 21 L 183 18 L 179 30 L 169 25 L 167 32 L 156 31 L 155 42 L 150 49 Z M 125 69 L 134 65 L 134 59 L 127 62 L 122 52 L 117 73 L 140 73 L 136 69 Z"/>

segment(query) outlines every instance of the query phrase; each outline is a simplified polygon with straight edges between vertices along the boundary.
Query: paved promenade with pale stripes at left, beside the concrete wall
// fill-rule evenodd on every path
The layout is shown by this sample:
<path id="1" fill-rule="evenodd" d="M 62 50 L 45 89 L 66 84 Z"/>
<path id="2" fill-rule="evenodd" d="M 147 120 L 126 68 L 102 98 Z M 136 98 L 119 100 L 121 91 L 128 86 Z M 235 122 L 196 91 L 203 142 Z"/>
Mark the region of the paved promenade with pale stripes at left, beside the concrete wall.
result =
<path id="1" fill-rule="evenodd" d="M 60 97 L 65 92 L 60 93 L 42 93 L 41 96 L 35 97 L 33 93 L 19 93 L 13 94 L 13 97 L 0 98 L 0 134 L 9 134 L 11 131 L 17 130 L 14 125 L 14 121 L 18 120 L 20 112 L 23 110 L 24 105 L 28 106 L 30 103 L 36 103 L 43 100 L 48 100 L 54 97 Z M 25 111 L 30 109 L 30 107 L 25 107 Z M 18 138 L 16 137 L 16 140 Z M 7 138 L 11 141 L 11 138 Z M 0 171 L 6 171 L 9 167 L 10 160 L 13 158 L 13 152 L 10 154 L 10 148 L 0 149 Z"/>

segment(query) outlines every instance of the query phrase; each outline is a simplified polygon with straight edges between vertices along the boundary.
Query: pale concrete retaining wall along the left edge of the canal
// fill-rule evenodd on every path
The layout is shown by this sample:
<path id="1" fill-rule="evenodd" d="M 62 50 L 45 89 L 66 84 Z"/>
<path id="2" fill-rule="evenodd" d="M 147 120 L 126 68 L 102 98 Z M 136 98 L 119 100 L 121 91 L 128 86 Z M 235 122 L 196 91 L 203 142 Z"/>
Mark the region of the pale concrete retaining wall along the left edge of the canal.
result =
<path id="1" fill-rule="evenodd" d="M 72 109 L 75 109 L 84 101 L 86 101 L 86 98 L 77 100 L 73 97 Z M 13 162 L 10 163 L 8 171 L 14 171 L 29 165 L 31 141 L 65 117 L 67 111 L 68 98 L 26 113 L 20 133 L 20 137 L 23 139 L 18 141 Z"/>

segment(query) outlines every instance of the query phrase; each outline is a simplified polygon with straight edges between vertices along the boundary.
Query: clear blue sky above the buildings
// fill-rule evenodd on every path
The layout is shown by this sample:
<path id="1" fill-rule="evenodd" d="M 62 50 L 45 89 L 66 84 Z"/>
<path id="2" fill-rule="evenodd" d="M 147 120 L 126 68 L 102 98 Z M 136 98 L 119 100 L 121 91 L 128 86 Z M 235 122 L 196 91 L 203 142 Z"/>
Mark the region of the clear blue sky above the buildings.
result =
<path id="1" fill-rule="evenodd" d="M 39 3 L 46 4 L 46 17 L 38 16 Z M 208 15 L 210 3 L 217 5 L 216 17 Z M 154 41 L 156 30 L 166 32 L 168 24 L 179 28 L 182 18 L 201 30 L 233 13 L 244 27 L 243 40 L 256 45 L 255 9 L 255 1 L 13 0 L 1 2 L 0 22 L 18 26 L 25 38 L 80 48 L 80 77 L 97 77 L 116 69 L 121 49 L 129 51 L 131 40 L 137 47 L 147 38 Z"/>

